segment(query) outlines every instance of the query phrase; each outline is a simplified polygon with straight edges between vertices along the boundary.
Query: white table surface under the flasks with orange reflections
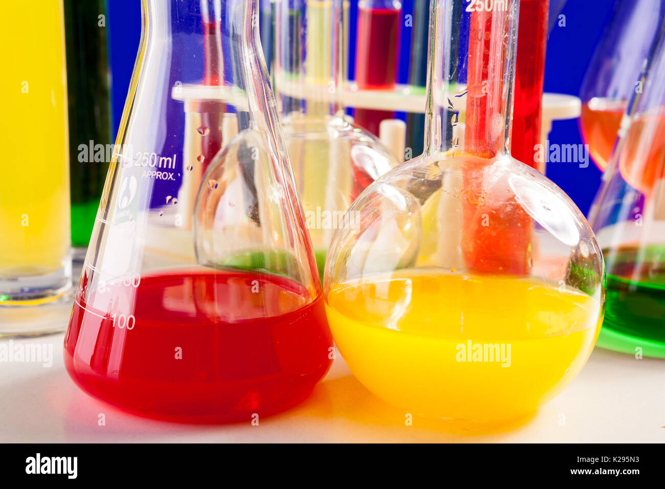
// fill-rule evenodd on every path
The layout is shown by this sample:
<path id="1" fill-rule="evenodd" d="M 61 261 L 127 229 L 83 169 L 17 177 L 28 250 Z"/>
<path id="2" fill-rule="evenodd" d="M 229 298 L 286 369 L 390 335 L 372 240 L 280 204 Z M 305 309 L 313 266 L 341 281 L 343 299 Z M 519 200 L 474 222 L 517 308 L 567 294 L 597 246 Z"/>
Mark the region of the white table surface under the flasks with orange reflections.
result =
<path id="1" fill-rule="evenodd" d="M 340 355 L 309 399 L 258 426 L 148 420 L 80 391 L 63 365 L 63 336 L 14 340 L 52 344 L 51 367 L 0 363 L 0 442 L 665 442 L 665 361 L 599 348 L 533 418 L 481 433 L 420 417 L 406 426 L 404 412 L 362 387 Z"/>

